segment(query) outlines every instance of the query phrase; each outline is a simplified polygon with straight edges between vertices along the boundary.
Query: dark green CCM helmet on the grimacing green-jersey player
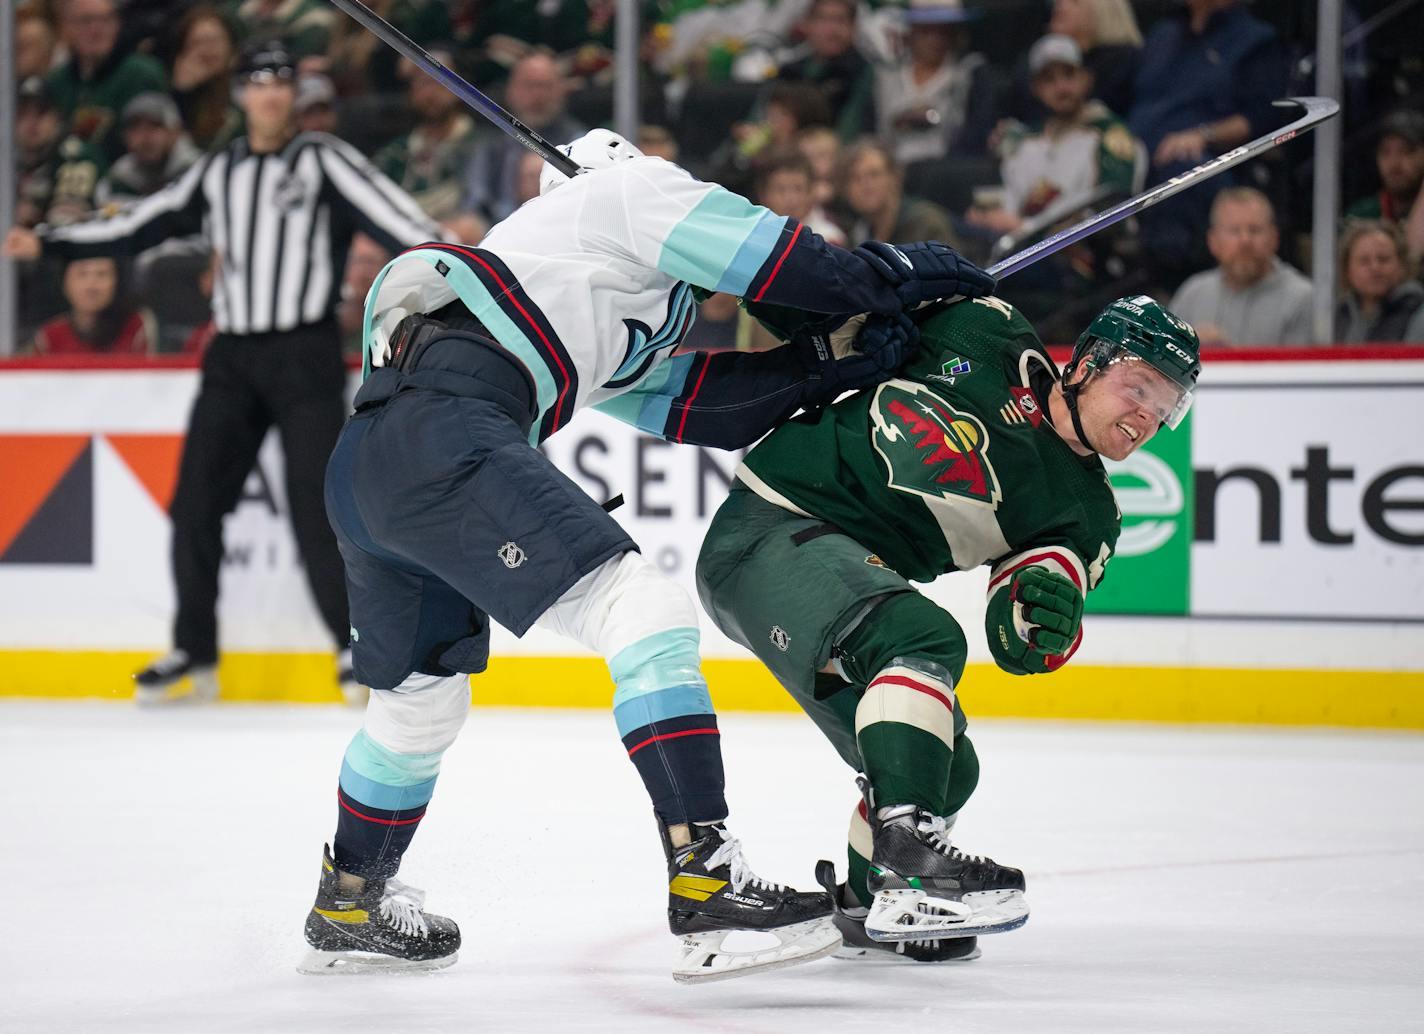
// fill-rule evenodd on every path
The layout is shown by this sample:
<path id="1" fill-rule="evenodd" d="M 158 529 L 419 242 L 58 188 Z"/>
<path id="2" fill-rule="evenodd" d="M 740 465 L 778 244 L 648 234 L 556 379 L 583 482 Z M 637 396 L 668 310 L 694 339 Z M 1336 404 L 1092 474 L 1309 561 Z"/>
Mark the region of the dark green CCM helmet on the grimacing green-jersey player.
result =
<path id="1" fill-rule="evenodd" d="M 1202 345 L 1190 323 L 1146 295 L 1119 298 L 1094 316 L 1074 345 L 1064 376 L 1079 363 L 1088 376 L 1078 385 L 1065 385 L 1065 389 L 1081 389 L 1094 372 L 1106 370 L 1115 362 L 1141 360 L 1176 387 L 1175 402 L 1162 412 L 1162 423 L 1176 427 L 1192 407 L 1196 379 L 1202 373 L 1200 352 Z M 1065 396 L 1077 396 L 1077 390 L 1065 390 Z M 1074 410 L 1075 402 L 1075 397 L 1069 402 Z"/>

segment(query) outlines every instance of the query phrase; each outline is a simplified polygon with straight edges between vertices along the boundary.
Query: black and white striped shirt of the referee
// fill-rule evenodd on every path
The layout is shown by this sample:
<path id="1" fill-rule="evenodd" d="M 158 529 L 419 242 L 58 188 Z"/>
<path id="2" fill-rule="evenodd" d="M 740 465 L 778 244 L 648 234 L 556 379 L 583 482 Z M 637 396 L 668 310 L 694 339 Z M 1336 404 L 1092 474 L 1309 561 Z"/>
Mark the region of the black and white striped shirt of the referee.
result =
<path id="1" fill-rule="evenodd" d="M 43 239 L 47 254 L 74 259 L 134 255 L 201 234 L 218 254 L 214 322 L 245 335 L 329 318 L 356 231 L 390 252 L 443 238 L 350 144 L 300 132 L 271 154 L 235 140 L 112 218 L 47 229 Z"/>

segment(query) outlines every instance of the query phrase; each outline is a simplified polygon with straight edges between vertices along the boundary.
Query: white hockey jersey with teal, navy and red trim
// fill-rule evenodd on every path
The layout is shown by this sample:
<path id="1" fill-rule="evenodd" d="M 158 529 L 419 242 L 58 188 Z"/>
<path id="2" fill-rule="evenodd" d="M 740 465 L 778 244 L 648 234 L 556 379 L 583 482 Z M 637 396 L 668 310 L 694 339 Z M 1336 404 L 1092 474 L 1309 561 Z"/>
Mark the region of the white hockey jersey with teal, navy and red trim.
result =
<path id="1" fill-rule="evenodd" d="M 404 316 L 460 299 L 528 369 L 531 440 L 590 404 L 664 434 L 695 367 L 693 356 L 668 362 L 696 316 L 692 286 L 815 312 L 897 310 L 850 252 L 639 157 L 525 202 L 477 248 L 430 244 L 394 258 L 366 298 L 366 365 L 386 362 Z"/>

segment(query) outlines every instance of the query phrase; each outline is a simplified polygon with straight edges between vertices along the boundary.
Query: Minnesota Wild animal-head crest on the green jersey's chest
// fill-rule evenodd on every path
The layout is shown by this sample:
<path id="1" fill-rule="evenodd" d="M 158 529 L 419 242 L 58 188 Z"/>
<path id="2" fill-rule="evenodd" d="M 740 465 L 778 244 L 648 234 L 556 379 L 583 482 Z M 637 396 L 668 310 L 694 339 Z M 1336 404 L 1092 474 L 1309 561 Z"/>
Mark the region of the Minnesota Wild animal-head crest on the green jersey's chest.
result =
<path id="1" fill-rule="evenodd" d="M 960 497 L 998 506 L 1004 493 L 978 417 L 907 380 L 881 385 L 870 417 L 876 451 L 890 469 L 890 487 L 930 500 Z"/>

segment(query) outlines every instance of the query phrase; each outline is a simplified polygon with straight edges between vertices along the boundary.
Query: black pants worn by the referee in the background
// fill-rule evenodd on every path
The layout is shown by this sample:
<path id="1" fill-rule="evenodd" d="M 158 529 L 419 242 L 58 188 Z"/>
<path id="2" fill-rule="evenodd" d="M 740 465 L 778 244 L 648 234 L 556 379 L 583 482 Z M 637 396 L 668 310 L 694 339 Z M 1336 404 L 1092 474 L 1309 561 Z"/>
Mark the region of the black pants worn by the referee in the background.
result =
<path id="1" fill-rule="evenodd" d="M 346 580 L 322 501 L 326 460 L 346 417 L 345 392 L 335 320 L 281 333 L 219 333 L 208 346 L 169 508 L 178 588 L 174 647 L 195 662 L 218 658 L 222 518 L 236 507 L 273 424 L 282 436 L 292 531 L 306 577 L 333 641 L 346 645 Z"/>

